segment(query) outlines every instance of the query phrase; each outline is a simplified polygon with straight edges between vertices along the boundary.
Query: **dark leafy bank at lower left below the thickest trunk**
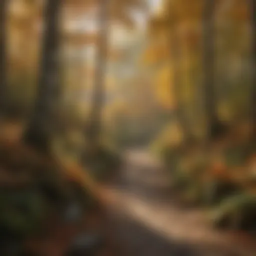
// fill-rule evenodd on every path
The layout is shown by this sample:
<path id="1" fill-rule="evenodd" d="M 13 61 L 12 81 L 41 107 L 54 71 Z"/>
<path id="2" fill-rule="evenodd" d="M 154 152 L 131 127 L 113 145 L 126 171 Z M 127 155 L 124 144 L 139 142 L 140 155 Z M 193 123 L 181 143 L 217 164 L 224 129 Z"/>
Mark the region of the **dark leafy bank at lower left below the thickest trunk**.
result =
<path id="1" fill-rule="evenodd" d="M 0 143 L 0 226 L 6 239 L 25 239 L 44 230 L 52 213 L 61 215 L 70 200 L 94 204 L 78 179 L 62 166 L 15 143 Z"/>

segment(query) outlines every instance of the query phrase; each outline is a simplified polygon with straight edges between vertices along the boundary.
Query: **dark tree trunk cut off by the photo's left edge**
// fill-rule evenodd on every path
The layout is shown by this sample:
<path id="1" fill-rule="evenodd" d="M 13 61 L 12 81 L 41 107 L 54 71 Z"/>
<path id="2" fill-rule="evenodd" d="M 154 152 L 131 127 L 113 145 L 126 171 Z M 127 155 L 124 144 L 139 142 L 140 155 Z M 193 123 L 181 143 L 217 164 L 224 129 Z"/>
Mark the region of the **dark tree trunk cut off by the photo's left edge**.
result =
<path id="1" fill-rule="evenodd" d="M 6 110 L 6 12 L 7 0 L 0 2 L 0 115 Z"/>

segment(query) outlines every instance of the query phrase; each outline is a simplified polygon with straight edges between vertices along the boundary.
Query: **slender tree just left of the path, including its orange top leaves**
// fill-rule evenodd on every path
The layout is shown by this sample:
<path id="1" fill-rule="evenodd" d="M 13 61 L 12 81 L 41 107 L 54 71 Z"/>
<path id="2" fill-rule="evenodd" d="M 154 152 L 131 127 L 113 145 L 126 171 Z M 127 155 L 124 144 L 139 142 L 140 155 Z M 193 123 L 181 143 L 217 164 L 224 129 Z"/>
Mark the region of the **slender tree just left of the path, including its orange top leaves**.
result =
<path id="1" fill-rule="evenodd" d="M 98 0 L 99 4 L 99 35 L 97 38 L 97 58 L 94 79 L 94 90 L 92 96 L 92 106 L 90 120 L 87 128 L 87 138 L 90 146 L 97 145 L 101 130 L 101 110 L 104 99 L 104 74 L 107 59 L 107 28 L 111 20 L 119 20 L 127 26 L 132 26 L 129 15 L 125 13 L 128 7 L 142 6 L 140 0 Z"/>

